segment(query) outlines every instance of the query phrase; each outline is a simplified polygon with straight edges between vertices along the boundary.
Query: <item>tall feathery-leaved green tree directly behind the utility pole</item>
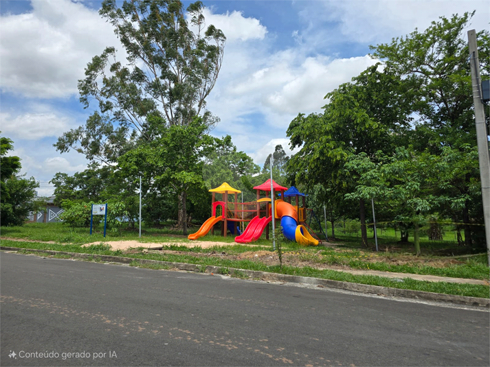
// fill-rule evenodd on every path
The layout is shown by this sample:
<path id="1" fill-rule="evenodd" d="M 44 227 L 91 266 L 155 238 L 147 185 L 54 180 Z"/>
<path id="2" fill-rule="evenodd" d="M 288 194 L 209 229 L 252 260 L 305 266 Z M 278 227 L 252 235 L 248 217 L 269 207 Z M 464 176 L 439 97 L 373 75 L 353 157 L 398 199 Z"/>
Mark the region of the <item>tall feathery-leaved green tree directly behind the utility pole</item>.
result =
<path id="1" fill-rule="evenodd" d="M 471 73 L 468 61 L 466 34 L 473 13 L 441 17 L 425 29 L 405 37 L 393 38 L 389 44 L 371 47 L 372 56 L 383 60 L 386 70 L 397 75 L 405 84 L 414 86 L 412 95 L 416 130 L 410 140 L 416 150 L 449 157 L 463 171 L 445 176 L 445 187 L 438 193 L 452 197 L 456 204 L 446 205 L 446 213 L 454 220 L 465 223 L 465 243 L 471 246 L 474 222 L 482 217 L 471 218 L 474 208 L 480 208 L 481 198 L 469 200 L 475 182 L 479 182 L 476 160 L 457 163 L 454 158 L 471 158 L 467 152 L 476 147 L 473 99 L 471 98 Z M 489 75 L 490 38 L 487 30 L 477 33 L 478 53 L 482 76 Z M 487 121 L 489 110 L 486 111 Z M 475 159 L 474 157 L 472 159 Z M 471 167 L 471 168 L 469 168 Z M 445 170 L 449 173 L 449 170 Z M 456 200 L 456 201 L 455 201 Z"/>

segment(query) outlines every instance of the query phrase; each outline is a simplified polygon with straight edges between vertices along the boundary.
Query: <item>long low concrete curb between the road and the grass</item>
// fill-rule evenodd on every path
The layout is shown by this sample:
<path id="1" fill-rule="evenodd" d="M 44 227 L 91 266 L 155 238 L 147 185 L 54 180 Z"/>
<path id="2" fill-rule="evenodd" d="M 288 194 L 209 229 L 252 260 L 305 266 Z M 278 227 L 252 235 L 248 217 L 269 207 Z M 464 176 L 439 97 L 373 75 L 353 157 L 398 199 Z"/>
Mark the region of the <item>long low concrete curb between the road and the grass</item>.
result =
<path id="1" fill-rule="evenodd" d="M 78 252 L 36 250 L 30 248 L 17 248 L 17 247 L 7 247 L 7 246 L 0 246 L 0 250 L 16 251 L 16 252 L 27 251 L 27 252 L 37 253 L 37 254 L 49 254 L 49 255 L 64 254 L 78 259 L 100 260 L 100 261 L 112 262 L 112 263 L 125 263 L 125 264 L 140 263 L 142 265 L 149 265 L 149 264 L 163 265 L 170 269 L 186 270 L 188 272 L 202 272 L 202 273 L 205 272 L 209 274 L 213 273 L 213 274 L 228 274 L 228 275 L 235 274 L 240 277 L 247 276 L 249 279 L 260 279 L 263 281 L 282 281 L 285 283 L 316 285 L 318 287 L 344 289 L 351 292 L 379 294 L 382 296 L 393 296 L 393 297 L 402 297 L 402 298 L 415 298 L 419 300 L 431 300 L 435 302 L 454 303 L 456 305 L 478 306 L 478 307 L 485 307 L 490 309 L 489 298 L 454 296 L 452 294 L 440 294 L 440 293 L 432 293 L 432 292 L 414 291 L 410 289 L 381 287 L 379 285 L 366 285 L 366 284 L 348 283 L 342 281 L 331 281 L 329 279 L 310 278 L 308 276 L 259 272 L 256 270 L 245 270 L 245 269 L 236 269 L 236 268 L 223 268 L 223 267 L 212 266 L 212 265 L 207 265 L 203 267 L 202 265 L 189 264 L 189 263 L 173 263 L 170 261 L 133 259 L 130 257 L 118 257 L 118 256 L 102 255 L 102 254 L 83 254 Z"/>

